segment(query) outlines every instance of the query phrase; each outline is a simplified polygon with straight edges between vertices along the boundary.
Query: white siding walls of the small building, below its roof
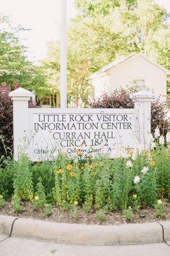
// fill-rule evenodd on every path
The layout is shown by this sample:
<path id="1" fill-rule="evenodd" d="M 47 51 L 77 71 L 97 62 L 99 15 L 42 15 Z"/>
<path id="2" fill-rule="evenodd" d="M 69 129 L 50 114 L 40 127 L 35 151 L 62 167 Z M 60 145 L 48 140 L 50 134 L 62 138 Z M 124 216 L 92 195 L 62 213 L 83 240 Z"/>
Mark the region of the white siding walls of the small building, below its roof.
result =
<path id="1" fill-rule="evenodd" d="M 155 97 L 166 95 L 166 72 L 143 56 L 120 63 L 107 72 L 109 75 L 97 76 L 91 80 L 91 84 L 95 86 L 95 97 L 100 97 L 102 92 L 111 93 L 116 88 L 130 86 L 138 79 L 144 79 L 146 87 L 154 91 Z"/>

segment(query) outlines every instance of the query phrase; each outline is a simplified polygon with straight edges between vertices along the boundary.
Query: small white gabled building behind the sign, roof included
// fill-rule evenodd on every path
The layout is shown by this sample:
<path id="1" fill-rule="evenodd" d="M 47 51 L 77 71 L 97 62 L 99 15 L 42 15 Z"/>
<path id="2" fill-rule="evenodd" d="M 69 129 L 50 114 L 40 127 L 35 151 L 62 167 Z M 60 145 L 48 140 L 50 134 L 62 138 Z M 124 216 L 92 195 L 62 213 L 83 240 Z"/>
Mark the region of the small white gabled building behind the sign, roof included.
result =
<path id="1" fill-rule="evenodd" d="M 95 97 L 100 97 L 103 92 L 111 93 L 117 88 L 134 84 L 139 87 L 146 86 L 155 97 L 163 97 L 167 94 L 169 74 L 169 70 L 140 52 L 112 61 L 89 76 L 89 82 L 95 88 Z"/>

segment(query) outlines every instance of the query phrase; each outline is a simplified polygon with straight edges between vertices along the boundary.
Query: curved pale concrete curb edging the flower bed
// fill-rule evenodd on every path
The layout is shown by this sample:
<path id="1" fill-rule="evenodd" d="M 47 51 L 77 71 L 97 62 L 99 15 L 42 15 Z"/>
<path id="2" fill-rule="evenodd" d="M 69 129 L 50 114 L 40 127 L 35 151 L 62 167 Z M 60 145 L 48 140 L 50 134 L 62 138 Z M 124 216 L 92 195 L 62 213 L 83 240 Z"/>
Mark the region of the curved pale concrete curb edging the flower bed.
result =
<path id="1" fill-rule="evenodd" d="M 164 242 L 164 239 L 170 240 L 170 221 L 101 226 L 24 218 L 16 220 L 10 216 L 0 215 L 0 234 L 6 231 L 9 234 L 9 230 L 12 230 L 10 232 L 12 237 L 59 244 L 124 245 L 160 243 Z"/>

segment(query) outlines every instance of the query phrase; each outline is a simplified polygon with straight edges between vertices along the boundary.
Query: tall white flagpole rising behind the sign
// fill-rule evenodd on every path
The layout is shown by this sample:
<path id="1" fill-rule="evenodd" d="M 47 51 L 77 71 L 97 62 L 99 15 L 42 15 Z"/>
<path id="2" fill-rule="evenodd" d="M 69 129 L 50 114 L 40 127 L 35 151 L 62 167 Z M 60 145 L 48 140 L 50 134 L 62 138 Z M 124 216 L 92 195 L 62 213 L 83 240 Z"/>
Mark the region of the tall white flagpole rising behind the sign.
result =
<path id="1" fill-rule="evenodd" d="M 67 108 L 67 58 L 66 58 L 66 0 L 61 4 L 61 63 L 60 63 L 60 107 Z"/>

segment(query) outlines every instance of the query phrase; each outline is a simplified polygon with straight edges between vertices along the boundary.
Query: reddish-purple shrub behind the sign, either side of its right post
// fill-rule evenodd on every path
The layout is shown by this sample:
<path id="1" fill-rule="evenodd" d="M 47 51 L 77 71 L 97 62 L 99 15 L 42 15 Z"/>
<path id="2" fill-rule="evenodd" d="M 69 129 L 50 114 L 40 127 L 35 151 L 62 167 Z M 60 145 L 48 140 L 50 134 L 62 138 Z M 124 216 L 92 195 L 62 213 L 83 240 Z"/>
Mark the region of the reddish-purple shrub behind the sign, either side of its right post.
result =
<path id="1" fill-rule="evenodd" d="M 111 94 L 104 93 L 100 98 L 93 99 L 89 102 L 91 108 L 134 108 L 134 102 L 130 99 L 130 93 L 134 93 L 134 88 L 129 88 L 129 91 L 121 88 L 114 90 Z M 160 99 L 155 99 L 151 102 L 151 132 L 153 133 L 156 127 L 160 127 L 160 134 L 166 136 L 169 130 L 169 120 L 167 119 L 166 102 L 160 102 Z"/>

